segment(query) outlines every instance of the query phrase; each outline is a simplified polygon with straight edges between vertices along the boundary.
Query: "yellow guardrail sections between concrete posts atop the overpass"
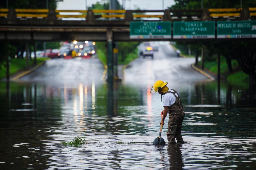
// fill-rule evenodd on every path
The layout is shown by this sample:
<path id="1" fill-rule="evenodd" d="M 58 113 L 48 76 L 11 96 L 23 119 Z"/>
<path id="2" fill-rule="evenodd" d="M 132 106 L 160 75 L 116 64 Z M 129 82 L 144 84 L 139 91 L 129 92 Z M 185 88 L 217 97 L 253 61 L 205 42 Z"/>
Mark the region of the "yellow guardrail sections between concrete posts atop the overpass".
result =
<path id="1" fill-rule="evenodd" d="M 256 7 L 251 7 L 249 9 L 249 15 L 251 17 L 256 16 Z M 225 9 L 207 9 L 209 12 L 209 17 L 212 19 L 216 18 L 228 18 L 234 17 L 239 18 L 241 16 L 242 8 L 225 8 Z M 7 18 L 9 9 L 0 9 L 0 17 Z M 88 10 L 54 10 L 55 16 L 58 19 L 62 18 L 86 18 Z M 95 19 L 98 18 L 117 18 L 123 19 L 126 17 L 126 10 L 91 10 Z M 130 10 L 128 10 L 130 11 Z M 16 18 L 47 18 L 49 10 L 48 9 L 15 9 Z M 61 14 L 62 12 L 66 13 L 74 13 L 78 12 L 79 15 L 73 14 Z M 133 18 L 159 18 L 163 19 L 165 15 L 165 11 L 163 10 L 131 10 L 131 15 Z M 150 14 L 147 14 L 149 13 Z M 158 14 L 154 15 L 152 13 L 158 12 Z M 159 14 L 159 12 L 164 13 Z M 192 20 L 199 20 L 203 15 L 202 9 L 196 10 L 168 10 L 169 20 L 172 19 L 188 19 L 191 18 Z"/>

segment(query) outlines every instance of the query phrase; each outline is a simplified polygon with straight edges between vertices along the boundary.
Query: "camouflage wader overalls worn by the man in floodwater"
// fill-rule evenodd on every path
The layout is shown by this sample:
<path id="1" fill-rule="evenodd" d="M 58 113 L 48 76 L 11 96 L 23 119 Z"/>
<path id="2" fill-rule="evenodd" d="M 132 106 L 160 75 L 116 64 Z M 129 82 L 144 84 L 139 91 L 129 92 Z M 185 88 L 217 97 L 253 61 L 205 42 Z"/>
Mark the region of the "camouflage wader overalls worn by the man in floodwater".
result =
<path id="1" fill-rule="evenodd" d="M 183 143 L 183 138 L 181 136 L 181 125 L 184 119 L 185 113 L 183 106 L 180 100 L 179 94 L 176 90 L 169 89 L 166 93 L 172 93 L 176 97 L 175 103 L 169 106 L 169 122 L 168 122 L 168 131 L 167 139 L 169 143 L 175 143 L 175 138 L 177 142 Z"/>

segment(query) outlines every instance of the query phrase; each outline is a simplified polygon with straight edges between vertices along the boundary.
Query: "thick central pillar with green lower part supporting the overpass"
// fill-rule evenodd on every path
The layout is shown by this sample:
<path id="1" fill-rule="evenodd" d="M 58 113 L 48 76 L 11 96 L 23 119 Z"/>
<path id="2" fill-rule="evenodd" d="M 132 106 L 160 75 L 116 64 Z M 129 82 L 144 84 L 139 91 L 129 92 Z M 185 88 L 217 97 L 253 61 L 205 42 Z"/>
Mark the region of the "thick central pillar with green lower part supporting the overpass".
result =
<path id="1" fill-rule="evenodd" d="M 107 65 L 108 65 L 108 85 L 113 87 L 113 32 L 107 30 Z"/>

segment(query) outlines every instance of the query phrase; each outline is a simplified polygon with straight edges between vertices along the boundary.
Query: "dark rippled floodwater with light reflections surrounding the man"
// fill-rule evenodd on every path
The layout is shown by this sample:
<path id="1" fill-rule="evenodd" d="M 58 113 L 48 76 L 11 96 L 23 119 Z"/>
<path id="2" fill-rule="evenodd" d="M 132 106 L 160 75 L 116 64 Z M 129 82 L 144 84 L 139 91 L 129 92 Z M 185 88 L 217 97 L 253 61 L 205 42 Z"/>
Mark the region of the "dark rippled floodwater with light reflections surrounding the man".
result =
<path id="1" fill-rule="evenodd" d="M 223 83 L 218 93 L 215 82 L 173 88 L 185 106 L 186 143 L 155 147 L 162 103 L 150 86 L 2 82 L 0 168 L 256 168 L 256 108 L 246 91 Z M 75 136 L 88 144 L 60 144 Z"/>

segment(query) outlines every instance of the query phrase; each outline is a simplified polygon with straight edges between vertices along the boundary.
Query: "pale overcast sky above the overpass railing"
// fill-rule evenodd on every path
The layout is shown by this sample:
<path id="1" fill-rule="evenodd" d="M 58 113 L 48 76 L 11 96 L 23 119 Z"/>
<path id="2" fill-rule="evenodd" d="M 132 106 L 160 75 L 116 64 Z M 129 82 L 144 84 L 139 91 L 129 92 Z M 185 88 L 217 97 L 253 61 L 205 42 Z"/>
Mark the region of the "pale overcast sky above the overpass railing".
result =
<path id="1" fill-rule="evenodd" d="M 85 10 L 86 0 L 63 0 L 63 2 L 59 2 L 57 9 L 64 10 L 64 9 L 70 9 L 70 10 Z M 122 5 L 123 0 L 118 0 L 119 3 Z M 162 2 L 164 1 L 164 9 L 167 9 L 167 7 L 170 7 L 174 4 L 174 0 L 124 0 L 125 9 L 131 9 L 134 10 L 137 7 L 144 10 L 162 10 L 163 5 Z M 91 6 L 92 4 L 95 4 L 96 2 L 101 2 L 101 0 L 87 0 L 87 6 Z"/>

